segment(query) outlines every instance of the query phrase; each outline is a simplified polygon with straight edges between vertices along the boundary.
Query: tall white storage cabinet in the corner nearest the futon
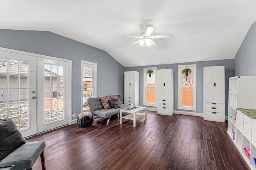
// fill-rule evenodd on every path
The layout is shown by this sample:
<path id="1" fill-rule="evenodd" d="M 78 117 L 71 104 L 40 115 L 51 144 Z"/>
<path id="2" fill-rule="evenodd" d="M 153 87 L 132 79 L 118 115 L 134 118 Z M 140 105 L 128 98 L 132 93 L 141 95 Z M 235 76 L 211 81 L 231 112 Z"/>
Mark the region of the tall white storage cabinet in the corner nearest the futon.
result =
<path id="1" fill-rule="evenodd" d="M 124 104 L 140 106 L 140 72 L 124 72 Z"/>

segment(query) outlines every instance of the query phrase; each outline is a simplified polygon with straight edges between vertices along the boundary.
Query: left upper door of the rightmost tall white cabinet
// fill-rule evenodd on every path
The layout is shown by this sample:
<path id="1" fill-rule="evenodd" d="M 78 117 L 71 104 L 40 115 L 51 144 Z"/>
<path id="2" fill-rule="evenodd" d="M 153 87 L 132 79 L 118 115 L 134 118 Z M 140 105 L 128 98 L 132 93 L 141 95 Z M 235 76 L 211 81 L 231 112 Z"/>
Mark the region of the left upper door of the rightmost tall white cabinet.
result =
<path id="1" fill-rule="evenodd" d="M 214 103 L 214 67 L 204 67 L 204 102 Z"/>

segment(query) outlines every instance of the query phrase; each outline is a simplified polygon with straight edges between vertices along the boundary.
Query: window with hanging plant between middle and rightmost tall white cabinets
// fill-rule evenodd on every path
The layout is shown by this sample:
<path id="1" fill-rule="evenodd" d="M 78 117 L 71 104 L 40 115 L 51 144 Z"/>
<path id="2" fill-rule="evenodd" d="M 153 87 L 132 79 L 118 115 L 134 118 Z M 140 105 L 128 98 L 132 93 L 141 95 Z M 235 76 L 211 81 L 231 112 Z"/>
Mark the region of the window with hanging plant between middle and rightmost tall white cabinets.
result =
<path id="1" fill-rule="evenodd" d="M 178 109 L 196 110 L 196 64 L 178 66 Z"/>

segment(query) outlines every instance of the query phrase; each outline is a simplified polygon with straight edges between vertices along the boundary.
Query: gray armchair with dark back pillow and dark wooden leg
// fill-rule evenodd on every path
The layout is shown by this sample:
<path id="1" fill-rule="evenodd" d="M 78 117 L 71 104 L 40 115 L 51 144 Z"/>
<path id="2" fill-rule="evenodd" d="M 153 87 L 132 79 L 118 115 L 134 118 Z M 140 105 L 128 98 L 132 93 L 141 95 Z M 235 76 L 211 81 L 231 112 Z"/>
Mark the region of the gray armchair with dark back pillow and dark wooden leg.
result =
<path id="1" fill-rule="evenodd" d="M 0 167 L 16 165 L 14 170 L 31 170 L 41 156 L 45 170 L 44 141 L 26 143 L 12 119 L 0 118 Z"/>

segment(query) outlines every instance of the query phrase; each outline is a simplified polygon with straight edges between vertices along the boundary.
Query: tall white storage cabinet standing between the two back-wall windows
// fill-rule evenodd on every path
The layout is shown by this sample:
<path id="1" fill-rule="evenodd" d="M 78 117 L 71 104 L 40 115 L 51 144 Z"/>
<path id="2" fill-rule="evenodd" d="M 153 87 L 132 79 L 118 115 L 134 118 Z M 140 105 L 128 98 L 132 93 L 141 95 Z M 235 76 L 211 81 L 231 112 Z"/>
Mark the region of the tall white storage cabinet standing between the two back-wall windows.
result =
<path id="1" fill-rule="evenodd" d="M 173 70 L 162 69 L 156 72 L 157 114 L 173 115 Z"/>

